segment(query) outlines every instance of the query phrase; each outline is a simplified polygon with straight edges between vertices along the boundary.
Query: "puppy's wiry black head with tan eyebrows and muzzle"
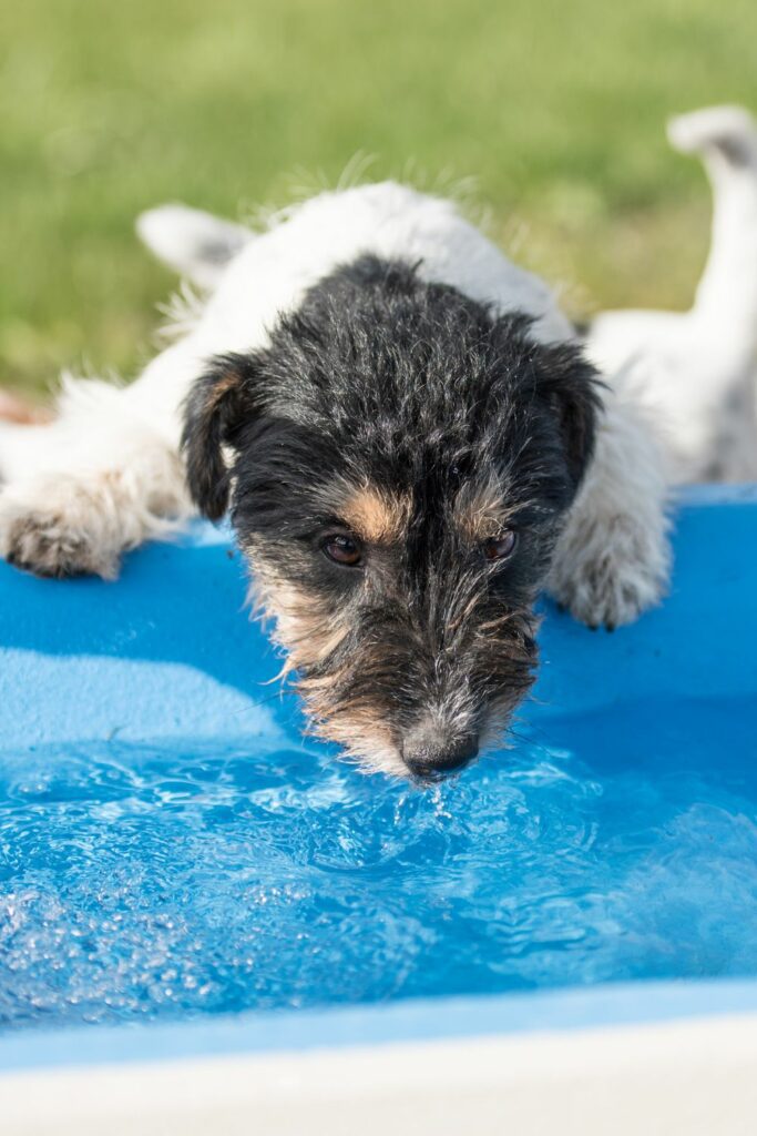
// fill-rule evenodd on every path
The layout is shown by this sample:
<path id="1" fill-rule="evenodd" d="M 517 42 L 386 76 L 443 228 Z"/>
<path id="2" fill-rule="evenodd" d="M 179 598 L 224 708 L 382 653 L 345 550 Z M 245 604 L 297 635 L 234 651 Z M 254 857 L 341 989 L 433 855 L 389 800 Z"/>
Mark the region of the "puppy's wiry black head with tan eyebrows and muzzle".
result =
<path id="1" fill-rule="evenodd" d="M 319 735 L 434 779 L 502 733 L 596 408 L 578 349 L 372 257 L 264 350 L 212 362 L 186 406 L 190 488 L 211 518 L 230 501 Z"/>

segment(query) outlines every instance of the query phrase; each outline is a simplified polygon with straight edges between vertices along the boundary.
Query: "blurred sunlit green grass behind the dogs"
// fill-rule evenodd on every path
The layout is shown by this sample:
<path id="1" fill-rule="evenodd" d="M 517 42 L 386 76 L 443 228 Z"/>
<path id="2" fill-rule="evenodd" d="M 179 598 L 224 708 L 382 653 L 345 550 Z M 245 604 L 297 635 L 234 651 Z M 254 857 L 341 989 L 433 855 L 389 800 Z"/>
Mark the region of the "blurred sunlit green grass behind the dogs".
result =
<path id="1" fill-rule="evenodd" d="M 665 118 L 757 110 L 755 0 L 25 0 L 0 44 L 0 384 L 134 373 L 174 278 L 133 233 L 409 159 L 474 175 L 493 232 L 574 314 L 684 307 L 707 242 Z"/>

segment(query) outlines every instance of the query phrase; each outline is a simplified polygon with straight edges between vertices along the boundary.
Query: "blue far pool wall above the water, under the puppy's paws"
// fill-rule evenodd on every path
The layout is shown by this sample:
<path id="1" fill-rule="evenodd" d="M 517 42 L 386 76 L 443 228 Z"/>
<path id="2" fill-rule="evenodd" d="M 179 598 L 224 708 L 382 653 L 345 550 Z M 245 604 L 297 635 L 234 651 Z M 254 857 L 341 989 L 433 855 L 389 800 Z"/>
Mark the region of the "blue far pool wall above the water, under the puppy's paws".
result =
<path id="1" fill-rule="evenodd" d="M 648 700 L 755 698 L 757 486 L 690 491 L 665 602 L 613 634 L 545 601 L 541 670 L 521 717 Z M 226 528 L 132 553 L 117 583 L 41 580 L 0 562 L 0 750 L 66 741 L 300 744 L 296 698 L 245 605 Z M 757 715 L 756 715 L 757 717 Z"/>

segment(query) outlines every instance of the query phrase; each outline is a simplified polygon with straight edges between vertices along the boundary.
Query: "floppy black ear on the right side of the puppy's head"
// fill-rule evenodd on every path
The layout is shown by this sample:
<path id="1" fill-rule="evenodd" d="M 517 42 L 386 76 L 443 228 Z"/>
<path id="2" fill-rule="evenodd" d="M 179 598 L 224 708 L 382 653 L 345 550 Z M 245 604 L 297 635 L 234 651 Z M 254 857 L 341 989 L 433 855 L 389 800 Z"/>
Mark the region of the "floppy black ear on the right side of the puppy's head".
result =
<path id="1" fill-rule="evenodd" d="M 602 408 L 602 382 L 580 346 L 561 343 L 542 349 L 539 389 L 557 415 L 567 469 L 575 488 L 591 456 Z"/>

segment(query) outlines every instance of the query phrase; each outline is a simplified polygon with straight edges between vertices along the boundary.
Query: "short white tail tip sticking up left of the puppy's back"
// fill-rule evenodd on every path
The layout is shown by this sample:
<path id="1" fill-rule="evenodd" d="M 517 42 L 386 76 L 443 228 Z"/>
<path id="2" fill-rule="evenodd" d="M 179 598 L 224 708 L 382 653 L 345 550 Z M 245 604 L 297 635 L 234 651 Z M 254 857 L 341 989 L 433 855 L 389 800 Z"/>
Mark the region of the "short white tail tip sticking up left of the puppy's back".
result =
<path id="1" fill-rule="evenodd" d="M 136 231 L 159 260 L 203 290 L 216 286 L 253 235 L 243 225 L 179 204 L 140 214 Z"/>

